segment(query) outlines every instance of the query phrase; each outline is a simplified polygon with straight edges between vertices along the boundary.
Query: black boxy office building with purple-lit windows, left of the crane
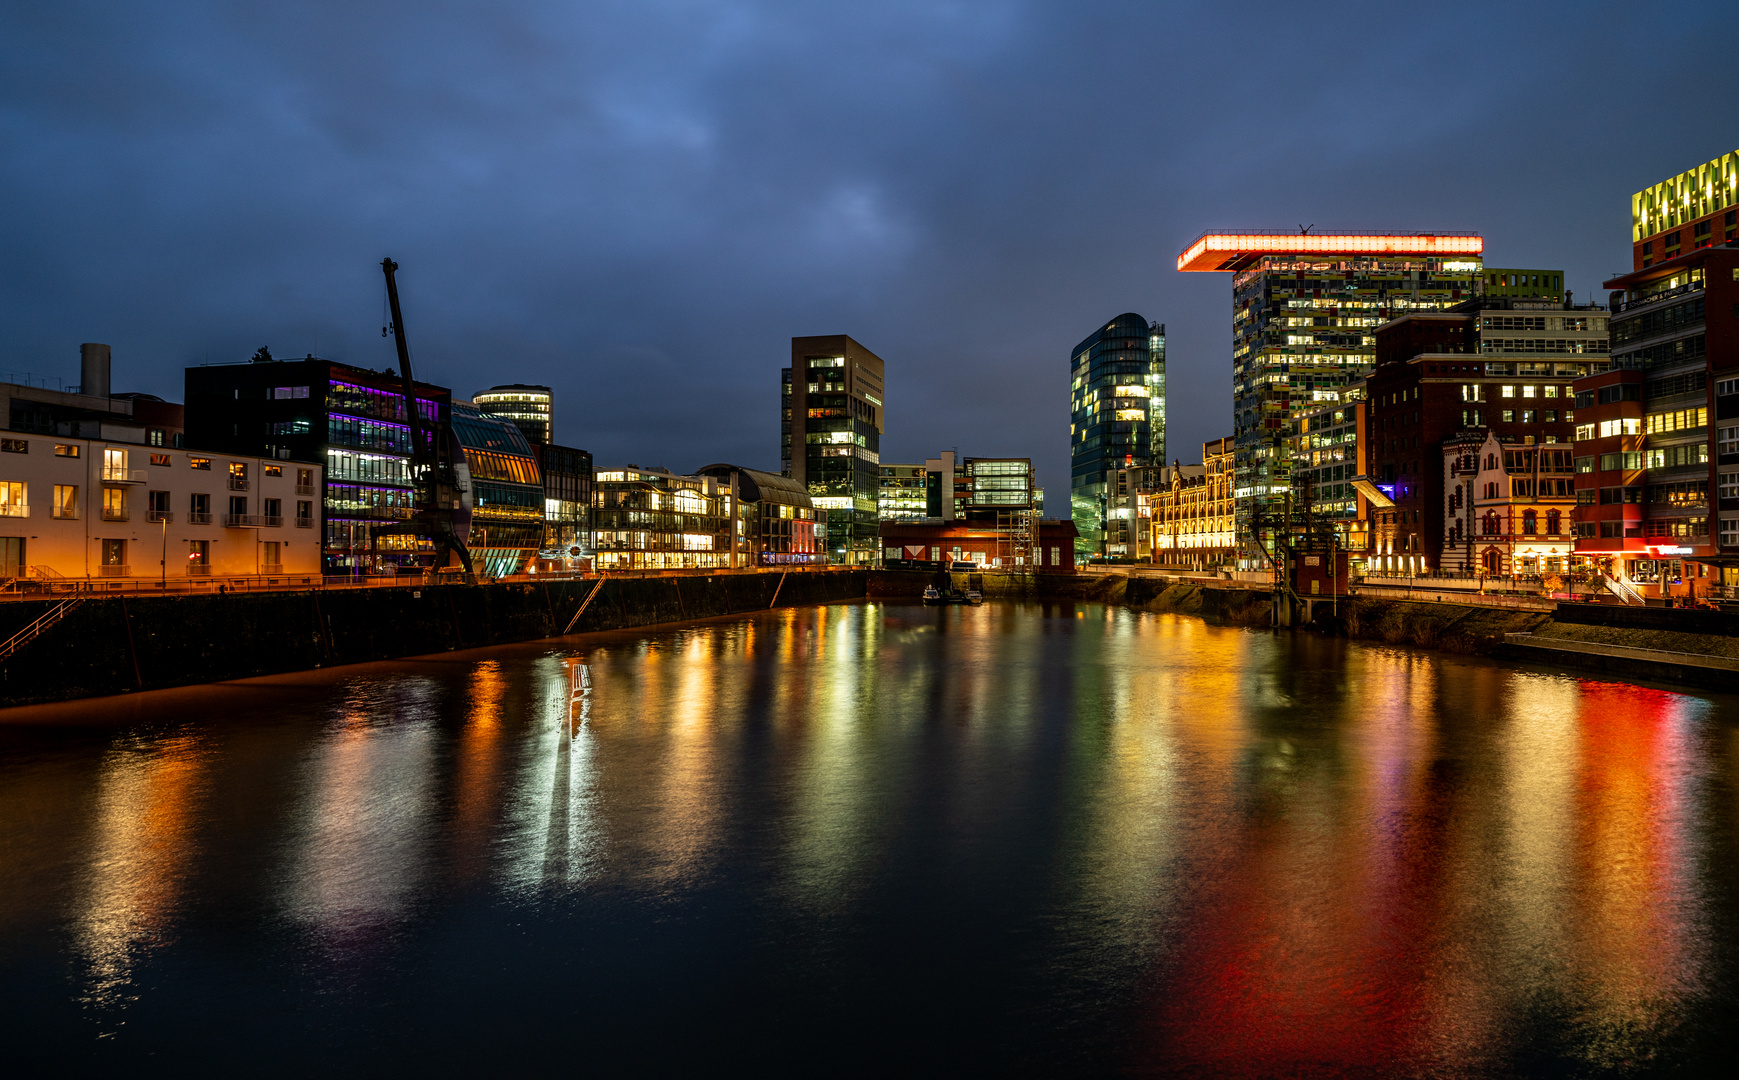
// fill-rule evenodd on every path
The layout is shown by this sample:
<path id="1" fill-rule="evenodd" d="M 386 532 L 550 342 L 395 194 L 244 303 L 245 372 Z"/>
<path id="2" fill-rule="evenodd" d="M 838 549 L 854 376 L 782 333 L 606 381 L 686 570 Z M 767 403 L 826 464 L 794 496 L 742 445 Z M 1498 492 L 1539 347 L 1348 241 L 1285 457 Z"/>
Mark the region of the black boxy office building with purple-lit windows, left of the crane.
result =
<path id="1" fill-rule="evenodd" d="M 416 384 L 426 447 L 450 461 L 452 391 Z M 376 530 L 412 517 L 410 426 L 405 384 L 370 370 L 308 357 L 186 369 L 188 445 L 320 470 L 327 574 L 426 567 L 433 550 L 409 534 Z"/>

